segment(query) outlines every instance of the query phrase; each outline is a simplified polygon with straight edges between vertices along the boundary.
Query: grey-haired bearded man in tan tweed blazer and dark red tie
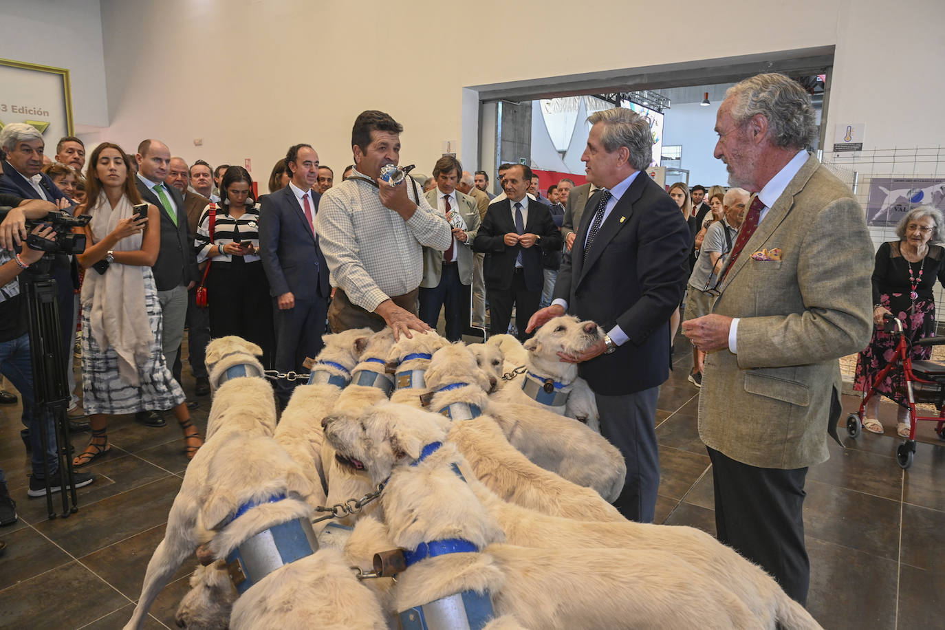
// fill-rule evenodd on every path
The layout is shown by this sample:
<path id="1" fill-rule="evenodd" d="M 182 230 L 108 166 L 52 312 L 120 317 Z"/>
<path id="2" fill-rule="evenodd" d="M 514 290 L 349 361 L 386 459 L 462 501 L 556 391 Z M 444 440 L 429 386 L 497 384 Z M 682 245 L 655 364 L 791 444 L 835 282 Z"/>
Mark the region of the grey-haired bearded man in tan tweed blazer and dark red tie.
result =
<path id="1" fill-rule="evenodd" d="M 840 414 L 838 358 L 872 332 L 873 247 L 850 189 L 808 155 L 810 96 L 777 74 L 730 88 L 715 157 L 756 192 L 711 315 L 683 324 L 708 351 L 699 436 L 713 463 L 718 539 L 804 604 L 807 468 L 828 458 Z"/>

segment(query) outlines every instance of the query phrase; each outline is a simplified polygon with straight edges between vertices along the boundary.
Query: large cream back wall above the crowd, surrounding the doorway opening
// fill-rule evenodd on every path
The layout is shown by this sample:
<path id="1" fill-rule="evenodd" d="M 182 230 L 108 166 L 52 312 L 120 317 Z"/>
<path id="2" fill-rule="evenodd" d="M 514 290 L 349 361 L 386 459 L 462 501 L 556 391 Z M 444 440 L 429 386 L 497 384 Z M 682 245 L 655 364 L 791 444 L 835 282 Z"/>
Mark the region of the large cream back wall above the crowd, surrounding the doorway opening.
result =
<path id="1" fill-rule="evenodd" d="M 63 11 L 97 3 L 19 4 L 36 14 L 41 10 L 33 6 Z M 500 0 L 476 3 L 470 19 L 481 17 L 484 24 L 468 36 L 456 31 L 450 41 L 461 47 L 455 55 L 443 53 L 434 31 L 442 4 L 432 0 L 396 6 L 365 0 L 356 8 L 327 0 L 101 0 L 111 126 L 100 137 L 129 150 L 142 138 L 158 137 L 189 161 L 251 158 L 253 175 L 265 181 L 271 164 L 295 142 L 311 142 L 321 161 L 336 169 L 351 162 L 354 117 L 380 109 L 404 124 L 402 161 L 428 172 L 444 140 L 458 139 L 466 162 L 475 155 L 467 146 L 477 140 L 470 111 L 475 99 L 464 87 L 534 78 L 554 85 L 555 77 L 588 72 L 835 45 L 829 129 L 861 122 L 867 145 L 945 144 L 945 117 L 938 115 L 945 85 L 926 70 L 945 59 L 945 41 L 937 35 L 945 3 L 939 0 L 719 0 L 713 13 L 726 16 L 726 29 L 752 36 L 713 38 L 711 46 L 687 37 L 667 45 L 663 20 L 640 26 L 652 20 L 644 3 L 600 0 L 589 7 L 593 13 L 582 16 L 574 0 L 516 5 L 527 15 L 516 26 L 523 51 L 516 62 L 504 28 L 513 24 L 509 5 Z M 661 13 L 704 9 L 696 0 L 677 0 L 664 3 Z M 11 11 L 3 10 L 6 18 Z M 76 9 L 73 20 L 85 19 L 79 14 Z M 560 32 L 562 16 L 573 16 L 578 31 L 580 25 L 593 31 L 599 19 L 618 33 L 594 37 L 593 50 L 567 45 L 568 37 L 549 45 L 547 33 Z M 38 19 L 30 24 L 42 26 Z M 926 34 L 920 25 L 932 27 Z M 58 44 L 41 49 L 34 41 L 18 36 L 6 56 L 45 59 L 39 53 Z M 58 59 L 86 54 L 85 45 L 70 45 Z M 83 117 L 97 120 L 89 110 L 101 111 L 101 95 L 76 100 L 82 98 L 89 99 L 80 106 Z M 203 146 L 194 146 L 197 137 Z"/>

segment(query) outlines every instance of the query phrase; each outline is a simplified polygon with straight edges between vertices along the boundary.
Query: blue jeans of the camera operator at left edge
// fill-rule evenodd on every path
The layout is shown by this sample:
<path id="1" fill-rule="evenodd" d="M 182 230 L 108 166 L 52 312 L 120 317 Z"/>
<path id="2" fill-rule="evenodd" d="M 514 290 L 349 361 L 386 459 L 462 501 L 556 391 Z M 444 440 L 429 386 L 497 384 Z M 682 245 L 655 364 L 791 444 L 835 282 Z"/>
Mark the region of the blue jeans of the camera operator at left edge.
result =
<path id="1" fill-rule="evenodd" d="M 29 430 L 29 444 L 32 447 L 30 463 L 33 467 L 33 476 L 45 478 L 43 472 L 43 440 L 40 434 L 40 414 L 33 406 L 33 364 L 29 355 L 29 335 L 0 342 L 0 372 L 9 379 L 9 382 L 20 392 L 23 400 L 23 426 Z M 59 469 L 56 458 L 56 430 L 53 426 L 53 417 L 44 414 L 42 421 L 46 425 L 48 445 L 46 459 L 49 461 L 49 474 L 55 475 Z M 0 481 L 3 474 L 0 473 Z"/>

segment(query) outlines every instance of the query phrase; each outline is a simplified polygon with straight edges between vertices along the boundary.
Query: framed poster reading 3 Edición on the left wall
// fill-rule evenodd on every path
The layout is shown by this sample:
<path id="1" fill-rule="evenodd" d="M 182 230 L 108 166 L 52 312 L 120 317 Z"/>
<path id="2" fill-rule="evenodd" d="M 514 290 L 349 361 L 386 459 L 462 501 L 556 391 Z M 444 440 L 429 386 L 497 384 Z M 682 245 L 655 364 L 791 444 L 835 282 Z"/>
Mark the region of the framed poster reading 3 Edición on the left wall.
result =
<path id="1" fill-rule="evenodd" d="M 0 129 L 10 123 L 26 123 L 39 129 L 46 148 L 55 153 L 59 139 L 73 135 L 69 71 L 0 60 Z"/>

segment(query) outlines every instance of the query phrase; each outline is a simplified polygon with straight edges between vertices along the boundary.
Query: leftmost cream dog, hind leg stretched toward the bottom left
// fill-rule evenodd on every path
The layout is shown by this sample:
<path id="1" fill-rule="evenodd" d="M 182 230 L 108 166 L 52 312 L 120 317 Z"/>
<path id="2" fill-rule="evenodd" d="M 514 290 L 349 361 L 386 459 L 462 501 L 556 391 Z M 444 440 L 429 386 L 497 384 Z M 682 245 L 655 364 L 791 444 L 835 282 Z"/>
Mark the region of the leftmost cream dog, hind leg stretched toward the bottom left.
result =
<path id="1" fill-rule="evenodd" d="M 254 369 L 262 376 L 262 366 L 256 360 L 256 356 L 262 353 L 255 344 L 232 336 L 215 339 L 207 346 L 207 368 L 215 387 L 214 403 L 207 420 L 207 440 L 184 474 L 167 515 L 163 540 L 147 563 L 141 597 L 125 626 L 127 629 L 142 626 L 158 593 L 212 529 L 213 523 L 204 521 L 201 511 L 209 492 L 227 491 L 227 488 L 214 488 L 208 483 L 210 467 L 220 457 L 219 453 L 237 441 L 240 444 L 245 444 L 246 440 L 272 442 L 271 435 L 276 426 L 272 387 L 264 378 L 236 376 L 239 373 L 251 374 Z M 284 454 L 288 457 L 287 453 Z M 249 450 L 233 457 L 229 466 L 233 468 L 234 478 L 243 474 L 248 458 L 254 456 L 255 451 Z M 297 465 L 293 466 L 298 469 Z M 271 472 L 279 475 L 286 471 L 273 468 Z"/>

